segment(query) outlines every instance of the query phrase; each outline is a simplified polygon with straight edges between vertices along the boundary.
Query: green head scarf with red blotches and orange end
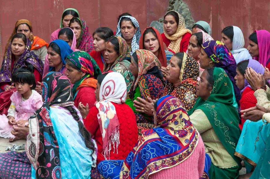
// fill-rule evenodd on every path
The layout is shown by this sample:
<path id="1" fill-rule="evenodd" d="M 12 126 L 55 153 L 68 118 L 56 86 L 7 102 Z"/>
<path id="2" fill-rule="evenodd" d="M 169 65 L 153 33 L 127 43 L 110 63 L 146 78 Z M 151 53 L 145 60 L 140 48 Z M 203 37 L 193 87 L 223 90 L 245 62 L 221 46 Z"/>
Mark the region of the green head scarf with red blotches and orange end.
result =
<path id="1" fill-rule="evenodd" d="M 96 61 L 87 52 L 84 51 L 73 52 L 69 56 L 67 56 L 67 58 L 70 59 L 70 61 L 74 65 L 76 65 L 76 67 L 80 69 L 82 73 L 86 73 L 85 76 L 82 76 L 82 78 L 73 85 L 72 88 L 73 99 L 75 99 L 77 91 L 84 86 L 97 88 L 96 79 L 97 76 L 101 74 L 101 71 L 97 66 Z M 87 80 L 88 78 L 89 80 Z"/>

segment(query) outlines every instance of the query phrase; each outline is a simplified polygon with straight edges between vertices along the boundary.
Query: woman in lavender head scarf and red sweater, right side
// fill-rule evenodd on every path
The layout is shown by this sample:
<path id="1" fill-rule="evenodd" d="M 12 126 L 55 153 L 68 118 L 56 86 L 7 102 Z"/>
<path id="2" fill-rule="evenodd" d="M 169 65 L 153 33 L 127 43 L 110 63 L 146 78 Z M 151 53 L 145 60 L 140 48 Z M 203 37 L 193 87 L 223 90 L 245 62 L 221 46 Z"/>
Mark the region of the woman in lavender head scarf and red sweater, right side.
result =
<path id="1" fill-rule="evenodd" d="M 256 106 L 256 103 L 257 103 L 257 100 L 254 96 L 254 90 L 252 89 L 252 87 L 249 85 L 249 83 L 244 77 L 245 70 L 247 68 L 252 68 L 257 73 L 264 74 L 264 67 L 262 67 L 261 64 L 256 60 L 253 60 L 253 59 L 244 60 L 237 64 L 236 76 L 234 77 L 234 79 L 235 79 L 235 84 L 241 90 L 241 94 L 242 94 L 241 100 L 239 101 L 241 110 L 254 107 Z M 246 120 L 241 118 L 241 122 L 239 124 L 239 127 L 241 130 L 243 128 L 245 121 Z"/>

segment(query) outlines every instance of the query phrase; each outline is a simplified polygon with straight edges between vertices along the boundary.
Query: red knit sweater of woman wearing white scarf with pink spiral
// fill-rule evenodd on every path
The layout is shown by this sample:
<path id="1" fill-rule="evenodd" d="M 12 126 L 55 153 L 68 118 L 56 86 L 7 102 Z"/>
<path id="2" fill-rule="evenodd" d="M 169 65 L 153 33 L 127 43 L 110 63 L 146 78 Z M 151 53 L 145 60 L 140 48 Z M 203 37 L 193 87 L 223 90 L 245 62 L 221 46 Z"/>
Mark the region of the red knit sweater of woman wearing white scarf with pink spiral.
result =
<path id="1" fill-rule="evenodd" d="M 138 128 L 136 124 L 136 119 L 134 112 L 131 108 L 123 104 L 112 103 L 115 107 L 116 114 L 119 120 L 119 141 L 118 154 L 112 149 L 110 151 L 111 160 L 124 160 L 126 159 L 129 152 L 133 149 L 135 144 L 138 142 Z M 99 128 L 99 123 L 97 120 L 98 110 L 96 107 L 90 109 L 89 114 L 86 119 L 83 121 L 86 129 L 93 135 L 94 139 L 97 142 L 97 164 L 104 160 L 102 155 L 102 135 Z"/>

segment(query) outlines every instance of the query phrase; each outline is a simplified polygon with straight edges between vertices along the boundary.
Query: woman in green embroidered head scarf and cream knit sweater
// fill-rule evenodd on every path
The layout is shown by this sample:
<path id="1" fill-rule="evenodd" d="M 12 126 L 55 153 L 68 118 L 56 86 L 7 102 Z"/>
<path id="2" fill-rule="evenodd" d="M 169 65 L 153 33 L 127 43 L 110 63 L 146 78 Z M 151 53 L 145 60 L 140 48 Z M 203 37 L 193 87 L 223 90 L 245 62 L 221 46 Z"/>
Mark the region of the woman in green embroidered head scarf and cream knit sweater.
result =
<path id="1" fill-rule="evenodd" d="M 188 114 L 212 161 L 209 178 L 237 178 L 241 161 L 234 150 L 241 132 L 230 78 L 222 68 L 210 67 L 197 85 L 198 99 Z"/>

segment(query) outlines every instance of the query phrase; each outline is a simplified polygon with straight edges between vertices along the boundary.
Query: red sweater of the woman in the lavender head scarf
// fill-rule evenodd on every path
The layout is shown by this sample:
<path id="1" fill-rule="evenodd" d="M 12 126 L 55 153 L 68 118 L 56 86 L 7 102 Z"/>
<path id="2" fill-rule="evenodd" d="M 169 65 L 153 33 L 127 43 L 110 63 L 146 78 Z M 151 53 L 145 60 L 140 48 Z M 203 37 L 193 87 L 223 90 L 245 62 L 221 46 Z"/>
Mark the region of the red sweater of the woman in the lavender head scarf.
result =
<path id="1" fill-rule="evenodd" d="M 245 110 L 245 109 L 252 108 L 252 107 L 256 106 L 257 99 L 254 96 L 254 90 L 247 87 L 243 91 L 242 98 L 239 101 L 239 103 L 240 103 L 240 109 L 241 110 Z M 240 127 L 241 130 L 243 129 L 243 125 L 244 125 L 245 121 L 246 120 L 244 120 L 243 117 L 241 117 L 241 124 L 239 124 L 239 127 Z"/>

